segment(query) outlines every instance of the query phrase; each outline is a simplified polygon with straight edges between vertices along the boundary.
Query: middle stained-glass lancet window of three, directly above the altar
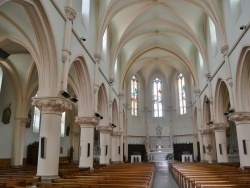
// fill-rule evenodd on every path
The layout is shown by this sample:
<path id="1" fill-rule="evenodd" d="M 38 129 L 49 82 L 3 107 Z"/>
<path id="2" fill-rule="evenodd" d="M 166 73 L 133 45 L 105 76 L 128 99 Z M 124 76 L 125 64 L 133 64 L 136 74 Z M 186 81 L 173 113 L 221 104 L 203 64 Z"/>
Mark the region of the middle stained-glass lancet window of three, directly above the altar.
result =
<path id="1" fill-rule="evenodd" d="M 159 78 L 153 80 L 153 108 L 154 117 L 162 117 L 162 82 Z"/>

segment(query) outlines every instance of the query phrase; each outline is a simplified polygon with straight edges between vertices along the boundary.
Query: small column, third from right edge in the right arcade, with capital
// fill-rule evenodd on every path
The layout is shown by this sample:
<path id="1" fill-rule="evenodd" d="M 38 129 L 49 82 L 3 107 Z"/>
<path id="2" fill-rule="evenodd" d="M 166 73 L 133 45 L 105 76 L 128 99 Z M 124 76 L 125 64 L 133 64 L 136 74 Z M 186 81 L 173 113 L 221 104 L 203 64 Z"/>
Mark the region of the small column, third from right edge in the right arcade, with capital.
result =
<path id="1" fill-rule="evenodd" d="M 205 147 L 205 160 L 209 163 L 212 163 L 212 130 L 211 129 L 203 129 L 201 131 L 202 137 L 203 137 L 203 144 Z"/>

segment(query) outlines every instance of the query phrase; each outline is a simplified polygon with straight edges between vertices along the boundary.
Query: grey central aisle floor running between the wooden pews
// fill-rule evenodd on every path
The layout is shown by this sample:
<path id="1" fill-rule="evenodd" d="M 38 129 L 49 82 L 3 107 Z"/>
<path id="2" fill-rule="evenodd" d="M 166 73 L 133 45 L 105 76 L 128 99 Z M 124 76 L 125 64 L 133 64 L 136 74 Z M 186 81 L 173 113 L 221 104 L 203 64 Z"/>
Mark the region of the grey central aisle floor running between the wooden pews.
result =
<path id="1" fill-rule="evenodd" d="M 156 163 L 153 188 L 179 188 L 168 170 L 167 162 Z"/>

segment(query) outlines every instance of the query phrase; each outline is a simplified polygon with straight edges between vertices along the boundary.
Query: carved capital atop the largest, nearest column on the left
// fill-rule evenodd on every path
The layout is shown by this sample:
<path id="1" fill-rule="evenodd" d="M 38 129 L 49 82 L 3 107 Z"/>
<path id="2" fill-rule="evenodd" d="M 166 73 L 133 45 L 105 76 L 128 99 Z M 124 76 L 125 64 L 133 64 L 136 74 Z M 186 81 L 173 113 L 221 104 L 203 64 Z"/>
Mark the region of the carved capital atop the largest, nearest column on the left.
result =
<path id="1" fill-rule="evenodd" d="M 72 109 L 72 104 L 62 97 L 34 97 L 33 106 L 36 106 L 41 113 L 63 113 Z"/>

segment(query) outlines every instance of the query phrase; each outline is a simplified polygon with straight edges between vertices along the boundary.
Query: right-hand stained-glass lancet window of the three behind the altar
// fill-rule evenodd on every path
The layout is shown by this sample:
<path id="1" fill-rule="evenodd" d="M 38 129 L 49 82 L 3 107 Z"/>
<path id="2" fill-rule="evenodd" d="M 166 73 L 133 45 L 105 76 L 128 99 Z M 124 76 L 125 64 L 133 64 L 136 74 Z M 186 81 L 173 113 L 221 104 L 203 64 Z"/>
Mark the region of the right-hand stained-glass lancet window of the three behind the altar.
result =
<path id="1" fill-rule="evenodd" d="M 186 114 L 186 85 L 185 85 L 185 78 L 180 73 L 178 76 L 178 93 L 179 93 L 179 108 L 180 114 Z"/>

